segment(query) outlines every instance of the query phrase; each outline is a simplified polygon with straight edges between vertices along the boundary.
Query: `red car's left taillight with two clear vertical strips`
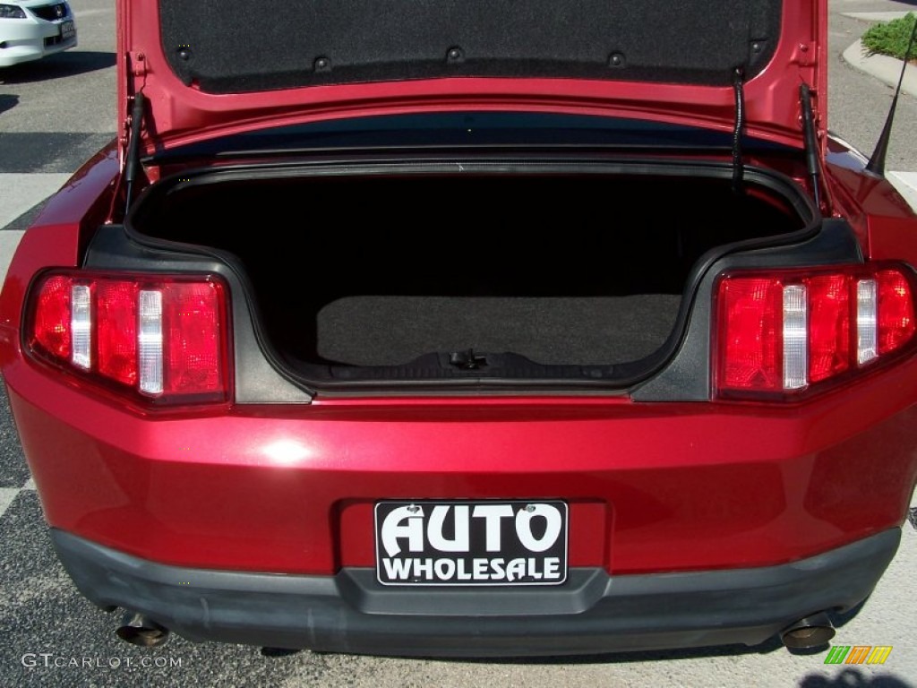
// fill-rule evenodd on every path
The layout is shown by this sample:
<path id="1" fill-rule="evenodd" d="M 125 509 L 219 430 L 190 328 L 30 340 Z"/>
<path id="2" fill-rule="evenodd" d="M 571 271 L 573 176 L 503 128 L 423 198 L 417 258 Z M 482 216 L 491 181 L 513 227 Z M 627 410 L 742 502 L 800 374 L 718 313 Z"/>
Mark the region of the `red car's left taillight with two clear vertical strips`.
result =
<path id="1" fill-rule="evenodd" d="M 35 284 L 37 358 L 157 404 L 228 398 L 226 287 L 207 275 L 56 272 Z"/>

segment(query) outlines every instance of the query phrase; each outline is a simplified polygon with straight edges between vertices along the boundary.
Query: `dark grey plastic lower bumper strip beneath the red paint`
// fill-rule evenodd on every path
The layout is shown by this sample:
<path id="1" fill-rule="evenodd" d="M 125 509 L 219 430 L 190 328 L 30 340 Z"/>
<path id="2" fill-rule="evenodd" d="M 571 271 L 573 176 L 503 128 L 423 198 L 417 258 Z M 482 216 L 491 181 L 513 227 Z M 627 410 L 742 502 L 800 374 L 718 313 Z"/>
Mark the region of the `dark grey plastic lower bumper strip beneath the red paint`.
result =
<path id="1" fill-rule="evenodd" d="M 803 616 L 849 609 L 895 554 L 891 528 L 805 560 L 732 571 L 609 577 L 557 588 L 389 588 L 336 576 L 165 566 L 58 529 L 54 545 L 97 605 L 141 612 L 185 638 L 375 655 L 496 657 L 756 645 Z"/>

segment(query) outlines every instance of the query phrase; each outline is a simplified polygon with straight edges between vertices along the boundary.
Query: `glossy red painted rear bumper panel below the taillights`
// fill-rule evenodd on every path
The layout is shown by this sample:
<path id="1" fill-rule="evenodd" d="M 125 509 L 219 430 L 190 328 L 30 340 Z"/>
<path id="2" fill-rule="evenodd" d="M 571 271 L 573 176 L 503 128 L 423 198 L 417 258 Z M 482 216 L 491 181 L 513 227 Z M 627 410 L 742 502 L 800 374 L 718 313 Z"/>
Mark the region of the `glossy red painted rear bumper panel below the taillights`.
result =
<path id="1" fill-rule="evenodd" d="M 795 560 L 900 525 L 917 361 L 795 407 L 348 401 L 144 418 L 18 361 L 50 525 L 186 566 L 372 564 L 380 498 L 571 502 L 570 562 L 613 573 Z"/>

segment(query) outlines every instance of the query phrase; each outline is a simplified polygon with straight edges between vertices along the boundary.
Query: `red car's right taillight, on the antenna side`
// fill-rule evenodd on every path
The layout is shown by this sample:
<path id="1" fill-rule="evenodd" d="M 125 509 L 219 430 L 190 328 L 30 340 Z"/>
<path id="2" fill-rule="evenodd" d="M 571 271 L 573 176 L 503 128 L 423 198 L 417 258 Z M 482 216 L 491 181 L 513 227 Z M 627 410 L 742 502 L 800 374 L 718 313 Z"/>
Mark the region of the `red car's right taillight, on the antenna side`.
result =
<path id="1" fill-rule="evenodd" d="M 914 343 L 914 276 L 884 263 L 743 271 L 716 287 L 715 393 L 801 394 Z"/>

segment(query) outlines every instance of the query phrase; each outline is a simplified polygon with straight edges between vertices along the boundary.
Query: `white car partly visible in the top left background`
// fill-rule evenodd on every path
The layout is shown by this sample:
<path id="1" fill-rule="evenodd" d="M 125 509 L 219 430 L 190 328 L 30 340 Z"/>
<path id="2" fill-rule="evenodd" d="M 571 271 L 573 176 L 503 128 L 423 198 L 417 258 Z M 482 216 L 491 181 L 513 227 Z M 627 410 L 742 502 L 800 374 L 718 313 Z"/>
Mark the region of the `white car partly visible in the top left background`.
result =
<path id="1" fill-rule="evenodd" d="M 0 2 L 0 67 L 76 46 L 73 11 L 64 0 Z"/>

